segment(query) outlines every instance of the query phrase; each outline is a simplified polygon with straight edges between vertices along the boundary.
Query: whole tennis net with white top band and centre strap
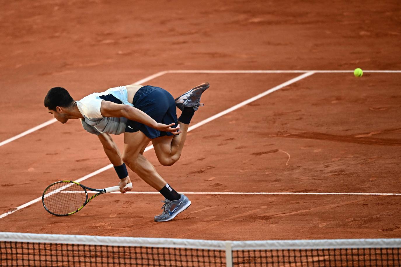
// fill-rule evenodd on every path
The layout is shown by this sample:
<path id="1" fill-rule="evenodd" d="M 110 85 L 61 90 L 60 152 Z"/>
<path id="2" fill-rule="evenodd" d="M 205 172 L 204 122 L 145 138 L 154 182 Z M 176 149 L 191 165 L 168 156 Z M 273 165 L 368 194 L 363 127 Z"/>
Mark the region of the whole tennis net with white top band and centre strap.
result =
<path id="1" fill-rule="evenodd" d="M 400 266 L 401 239 L 211 241 L 0 232 L 0 266 Z"/>

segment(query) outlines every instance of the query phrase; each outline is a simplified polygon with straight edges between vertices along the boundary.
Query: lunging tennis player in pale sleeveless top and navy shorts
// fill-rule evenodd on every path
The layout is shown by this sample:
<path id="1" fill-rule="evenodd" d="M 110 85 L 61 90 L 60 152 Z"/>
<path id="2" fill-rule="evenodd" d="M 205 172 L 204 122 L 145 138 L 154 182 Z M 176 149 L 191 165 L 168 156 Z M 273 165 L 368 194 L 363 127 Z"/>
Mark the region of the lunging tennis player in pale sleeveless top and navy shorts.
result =
<path id="1" fill-rule="evenodd" d="M 170 221 L 189 207 L 191 201 L 177 193 L 143 156 L 150 141 L 159 162 L 173 165 L 180 158 L 188 124 L 198 109 L 201 95 L 209 88 L 205 82 L 174 99 L 166 90 L 155 86 L 130 84 L 93 93 L 73 100 L 62 87 L 54 87 L 45 97 L 45 107 L 61 123 L 81 120 L 82 126 L 97 135 L 103 149 L 120 179 L 121 193 L 130 183 L 126 166 L 148 185 L 164 196 L 163 212 L 155 221 Z M 182 110 L 177 119 L 176 107 Z M 124 133 L 124 152 L 121 154 L 110 134 Z"/>

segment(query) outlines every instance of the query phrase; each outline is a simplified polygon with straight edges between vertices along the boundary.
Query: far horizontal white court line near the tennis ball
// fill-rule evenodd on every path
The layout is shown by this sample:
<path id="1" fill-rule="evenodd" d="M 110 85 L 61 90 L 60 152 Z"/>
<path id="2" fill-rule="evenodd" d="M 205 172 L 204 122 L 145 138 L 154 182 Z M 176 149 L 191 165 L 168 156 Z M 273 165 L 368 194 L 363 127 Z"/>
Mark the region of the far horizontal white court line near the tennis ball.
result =
<path id="1" fill-rule="evenodd" d="M 167 70 L 166 73 L 348 73 L 353 70 Z M 401 73 L 401 70 L 363 70 L 363 72 Z"/>

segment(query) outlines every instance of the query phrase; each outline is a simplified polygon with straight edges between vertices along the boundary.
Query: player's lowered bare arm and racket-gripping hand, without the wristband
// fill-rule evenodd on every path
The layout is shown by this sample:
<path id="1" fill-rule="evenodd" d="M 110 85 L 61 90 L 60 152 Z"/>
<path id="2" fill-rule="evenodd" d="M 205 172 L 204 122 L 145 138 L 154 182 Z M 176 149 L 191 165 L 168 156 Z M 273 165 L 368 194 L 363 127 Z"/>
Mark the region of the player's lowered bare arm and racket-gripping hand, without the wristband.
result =
<path id="1" fill-rule="evenodd" d="M 103 150 L 106 153 L 107 157 L 109 158 L 111 164 L 113 164 L 113 166 L 123 165 L 121 153 L 120 153 L 117 145 L 114 143 L 113 139 L 111 138 L 111 136 L 107 133 L 104 133 L 104 134 L 98 135 L 97 137 L 99 138 L 100 143 L 103 145 Z M 129 183 L 131 183 L 129 176 L 125 177 L 124 179 L 120 179 L 118 185 L 120 187 L 121 193 L 131 191 L 130 187 L 124 188 Z"/>

